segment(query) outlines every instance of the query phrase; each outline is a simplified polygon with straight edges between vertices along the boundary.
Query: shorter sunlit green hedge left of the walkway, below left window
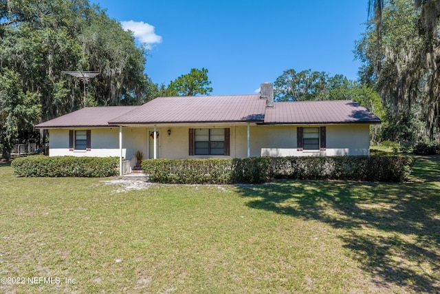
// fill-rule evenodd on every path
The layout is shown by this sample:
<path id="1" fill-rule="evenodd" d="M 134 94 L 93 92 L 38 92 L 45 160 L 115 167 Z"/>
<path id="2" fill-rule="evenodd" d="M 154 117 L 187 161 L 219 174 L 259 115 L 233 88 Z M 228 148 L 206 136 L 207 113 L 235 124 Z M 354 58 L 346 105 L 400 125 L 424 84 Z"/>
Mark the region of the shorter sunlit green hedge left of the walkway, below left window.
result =
<path id="1" fill-rule="evenodd" d="M 107 177 L 119 174 L 119 158 L 37 155 L 16 158 L 12 167 L 25 177 Z"/>

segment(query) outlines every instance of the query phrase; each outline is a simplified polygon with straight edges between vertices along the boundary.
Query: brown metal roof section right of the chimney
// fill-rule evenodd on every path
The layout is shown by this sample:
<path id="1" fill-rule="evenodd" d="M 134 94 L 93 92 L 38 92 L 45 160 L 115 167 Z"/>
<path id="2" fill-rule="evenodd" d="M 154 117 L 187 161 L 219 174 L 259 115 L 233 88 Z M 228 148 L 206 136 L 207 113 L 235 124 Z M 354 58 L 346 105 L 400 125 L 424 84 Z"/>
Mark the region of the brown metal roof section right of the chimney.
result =
<path id="1" fill-rule="evenodd" d="M 268 107 L 267 124 L 380 123 L 368 109 L 354 101 L 276 102 Z"/>

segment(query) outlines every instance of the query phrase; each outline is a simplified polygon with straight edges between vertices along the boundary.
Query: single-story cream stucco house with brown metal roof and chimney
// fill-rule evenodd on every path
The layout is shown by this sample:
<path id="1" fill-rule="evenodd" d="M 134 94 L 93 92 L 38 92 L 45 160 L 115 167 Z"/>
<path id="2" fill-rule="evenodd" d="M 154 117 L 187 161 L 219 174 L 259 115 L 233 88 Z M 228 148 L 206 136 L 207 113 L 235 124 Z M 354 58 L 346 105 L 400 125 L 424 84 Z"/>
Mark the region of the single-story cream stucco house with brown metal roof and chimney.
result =
<path id="1" fill-rule="evenodd" d="M 243 158 L 369 154 L 380 118 L 353 101 L 274 102 L 261 94 L 159 97 L 139 106 L 85 107 L 36 125 L 50 156 Z"/>

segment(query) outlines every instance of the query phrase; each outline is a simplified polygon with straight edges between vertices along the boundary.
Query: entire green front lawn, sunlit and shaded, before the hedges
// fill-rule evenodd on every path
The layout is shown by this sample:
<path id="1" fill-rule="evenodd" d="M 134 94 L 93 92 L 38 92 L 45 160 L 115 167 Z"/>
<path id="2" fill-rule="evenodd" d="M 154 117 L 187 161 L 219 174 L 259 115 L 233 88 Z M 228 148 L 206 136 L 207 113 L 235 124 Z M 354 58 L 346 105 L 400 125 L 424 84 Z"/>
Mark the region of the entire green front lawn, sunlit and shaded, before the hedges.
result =
<path id="1" fill-rule="evenodd" d="M 0 277 L 26 279 L 0 292 L 437 293 L 439 171 L 439 160 L 418 158 L 403 184 L 120 192 L 102 179 L 17 178 L 0 165 Z"/>

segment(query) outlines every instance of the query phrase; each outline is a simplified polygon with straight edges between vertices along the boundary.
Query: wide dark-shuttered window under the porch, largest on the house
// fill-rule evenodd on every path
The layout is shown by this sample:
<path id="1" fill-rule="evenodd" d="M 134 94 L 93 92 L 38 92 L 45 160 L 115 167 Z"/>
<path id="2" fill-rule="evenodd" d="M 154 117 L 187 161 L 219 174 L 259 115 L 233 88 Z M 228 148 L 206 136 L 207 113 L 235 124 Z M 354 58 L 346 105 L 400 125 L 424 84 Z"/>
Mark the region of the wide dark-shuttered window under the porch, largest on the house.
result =
<path id="1" fill-rule="evenodd" d="M 230 130 L 190 129 L 190 155 L 230 155 Z"/>

